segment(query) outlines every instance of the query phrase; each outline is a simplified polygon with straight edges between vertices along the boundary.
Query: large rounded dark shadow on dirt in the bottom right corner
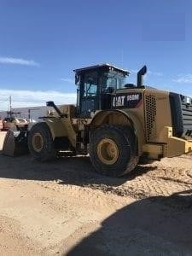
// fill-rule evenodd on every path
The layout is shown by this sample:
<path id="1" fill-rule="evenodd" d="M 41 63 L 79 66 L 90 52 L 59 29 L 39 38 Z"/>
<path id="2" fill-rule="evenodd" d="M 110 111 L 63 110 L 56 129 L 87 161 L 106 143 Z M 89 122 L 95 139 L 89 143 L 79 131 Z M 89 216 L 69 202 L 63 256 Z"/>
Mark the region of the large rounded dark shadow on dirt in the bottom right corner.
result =
<path id="1" fill-rule="evenodd" d="M 192 189 L 136 201 L 65 255 L 192 255 Z M 64 254 L 63 254 L 64 255 Z"/>

